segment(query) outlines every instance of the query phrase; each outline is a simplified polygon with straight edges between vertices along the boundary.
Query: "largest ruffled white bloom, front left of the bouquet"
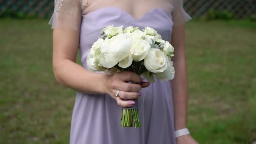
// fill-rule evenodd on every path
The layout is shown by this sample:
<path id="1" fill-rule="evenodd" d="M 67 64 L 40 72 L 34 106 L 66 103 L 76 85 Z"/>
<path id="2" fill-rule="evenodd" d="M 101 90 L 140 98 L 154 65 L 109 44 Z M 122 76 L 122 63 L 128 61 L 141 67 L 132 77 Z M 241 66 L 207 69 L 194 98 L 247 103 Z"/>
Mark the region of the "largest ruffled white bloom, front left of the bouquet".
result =
<path id="1" fill-rule="evenodd" d="M 133 40 L 128 34 L 118 34 L 105 40 L 101 46 L 100 64 L 112 68 L 130 54 Z"/>

